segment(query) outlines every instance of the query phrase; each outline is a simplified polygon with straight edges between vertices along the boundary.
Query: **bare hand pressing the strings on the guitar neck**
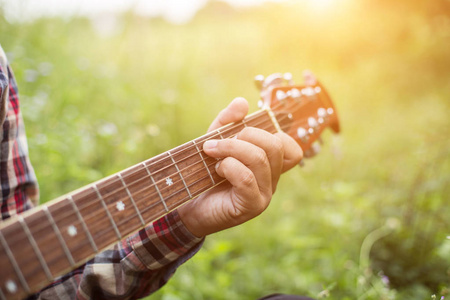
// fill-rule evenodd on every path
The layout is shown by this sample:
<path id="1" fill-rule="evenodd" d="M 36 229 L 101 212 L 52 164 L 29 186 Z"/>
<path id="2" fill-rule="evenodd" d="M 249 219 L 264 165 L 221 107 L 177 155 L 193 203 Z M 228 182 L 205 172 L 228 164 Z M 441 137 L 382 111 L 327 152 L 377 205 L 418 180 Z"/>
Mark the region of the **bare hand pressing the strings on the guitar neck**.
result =
<path id="1" fill-rule="evenodd" d="M 248 112 L 243 98 L 234 99 L 212 122 L 208 131 L 241 121 Z M 287 134 L 271 134 L 246 127 L 236 139 L 210 140 L 205 153 L 223 159 L 217 174 L 228 182 L 202 194 L 178 209 L 182 222 L 197 237 L 242 224 L 269 205 L 281 173 L 302 158 L 300 146 Z"/>

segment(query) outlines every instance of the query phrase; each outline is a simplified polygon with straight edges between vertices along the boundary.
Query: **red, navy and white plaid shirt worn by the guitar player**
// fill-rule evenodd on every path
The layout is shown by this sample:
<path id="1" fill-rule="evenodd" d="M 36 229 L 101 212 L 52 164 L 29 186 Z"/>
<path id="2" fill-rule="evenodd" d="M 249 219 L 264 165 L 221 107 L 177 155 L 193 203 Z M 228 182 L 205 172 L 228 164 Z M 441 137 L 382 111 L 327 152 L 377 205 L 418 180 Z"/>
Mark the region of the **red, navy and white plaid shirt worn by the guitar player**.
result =
<path id="1" fill-rule="evenodd" d="M 0 179 L 2 220 L 38 202 L 36 176 L 19 109 L 17 84 L 0 46 Z M 136 299 L 162 287 L 201 247 L 177 212 L 96 255 L 30 299 Z"/>

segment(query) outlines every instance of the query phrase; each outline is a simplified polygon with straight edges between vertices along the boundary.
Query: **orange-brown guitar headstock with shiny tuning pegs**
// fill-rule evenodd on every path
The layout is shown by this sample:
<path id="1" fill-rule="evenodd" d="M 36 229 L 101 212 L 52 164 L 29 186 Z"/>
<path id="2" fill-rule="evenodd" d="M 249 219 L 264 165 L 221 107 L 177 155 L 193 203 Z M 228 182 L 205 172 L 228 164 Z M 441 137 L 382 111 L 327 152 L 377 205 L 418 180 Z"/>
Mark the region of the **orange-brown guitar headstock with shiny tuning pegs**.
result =
<path id="1" fill-rule="evenodd" d="M 336 109 L 324 87 L 310 72 L 304 74 L 304 85 L 295 85 L 290 73 L 255 77 L 261 90 L 261 108 L 269 107 L 281 129 L 302 147 L 305 157 L 313 156 L 320 146 L 323 130 L 339 132 Z"/>

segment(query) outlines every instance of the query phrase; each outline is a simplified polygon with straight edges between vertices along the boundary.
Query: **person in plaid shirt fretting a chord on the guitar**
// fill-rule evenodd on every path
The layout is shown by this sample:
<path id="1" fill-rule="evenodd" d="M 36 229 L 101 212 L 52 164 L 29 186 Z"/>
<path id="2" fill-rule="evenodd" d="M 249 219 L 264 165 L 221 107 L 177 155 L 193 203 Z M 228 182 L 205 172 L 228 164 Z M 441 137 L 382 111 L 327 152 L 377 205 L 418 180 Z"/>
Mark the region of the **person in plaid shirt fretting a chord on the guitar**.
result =
<path id="1" fill-rule="evenodd" d="M 28 157 L 18 88 L 0 46 L 0 148 L 2 220 L 38 204 L 38 185 Z M 208 131 L 242 120 L 248 103 L 236 98 Z M 242 224 L 270 203 L 280 174 L 299 163 L 302 150 L 288 135 L 245 128 L 236 139 L 210 140 L 207 155 L 220 158 L 227 183 L 202 194 L 111 250 L 56 278 L 30 299 L 136 299 L 161 288 L 201 247 L 205 236 Z M 4 288 L 4 287 L 1 287 Z"/>

